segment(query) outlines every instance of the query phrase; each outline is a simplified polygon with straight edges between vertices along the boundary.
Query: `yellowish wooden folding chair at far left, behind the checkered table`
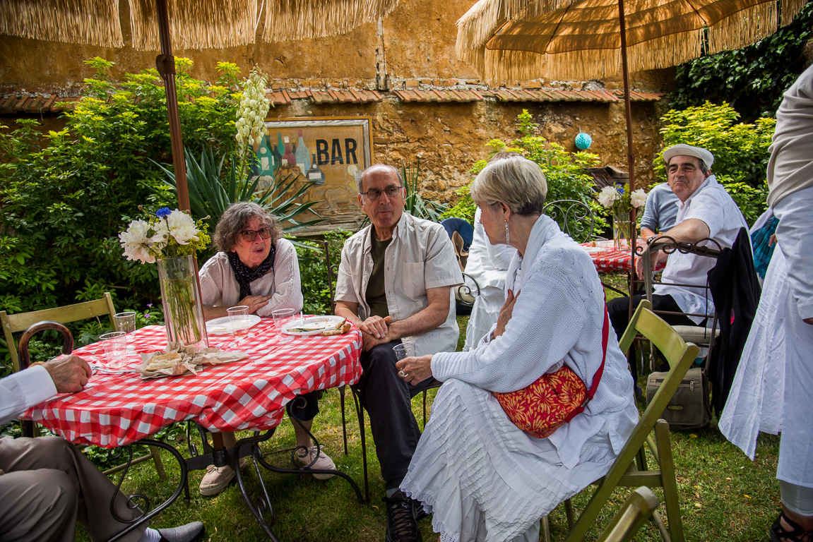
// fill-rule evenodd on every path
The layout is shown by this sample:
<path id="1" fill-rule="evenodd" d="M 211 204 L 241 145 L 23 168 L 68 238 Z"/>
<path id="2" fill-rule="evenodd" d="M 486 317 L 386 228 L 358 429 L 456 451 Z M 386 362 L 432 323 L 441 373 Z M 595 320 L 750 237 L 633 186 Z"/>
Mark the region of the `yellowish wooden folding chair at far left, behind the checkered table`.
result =
<path id="1" fill-rule="evenodd" d="M 93 301 L 54 307 L 53 309 L 34 310 L 32 312 L 19 314 L 7 314 L 5 310 L 0 310 L 0 324 L 2 324 L 3 335 L 6 337 L 8 350 L 11 354 L 13 370 L 20 371 L 21 368 L 24 369 L 28 367 L 28 339 L 35 333 L 46 329 L 54 329 L 61 332 L 63 335 L 62 352 L 71 353 L 73 349 L 73 337 L 71 332 L 67 330 L 67 327 L 64 327 L 64 324 L 107 315 L 111 328 L 115 329 L 114 314 L 115 307 L 113 306 L 113 300 L 109 292 L 105 292 L 104 297 L 94 299 Z M 42 323 L 47 323 L 48 325 L 41 325 Z M 19 345 L 15 344 L 13 335 L 17 332 L 23 332 L 23 335 L 20 336 Z M 21 358 L 24 358 L 24 365 L 22 366 L 20 365 Z M 24 422 L 23 436 L 34 436 L 33 423 Z M 155 463 L 155 470 L 158 471 L 159 477 L 161 479 L 166 478 L 158 448 L 150 447 L 150 453 L 133 459 L 133 464 L 146 461 L 150 458 Z M 124 466 L 115 466 L 106 470 L 105 474 L 110 474 L 123 468 Z"/>

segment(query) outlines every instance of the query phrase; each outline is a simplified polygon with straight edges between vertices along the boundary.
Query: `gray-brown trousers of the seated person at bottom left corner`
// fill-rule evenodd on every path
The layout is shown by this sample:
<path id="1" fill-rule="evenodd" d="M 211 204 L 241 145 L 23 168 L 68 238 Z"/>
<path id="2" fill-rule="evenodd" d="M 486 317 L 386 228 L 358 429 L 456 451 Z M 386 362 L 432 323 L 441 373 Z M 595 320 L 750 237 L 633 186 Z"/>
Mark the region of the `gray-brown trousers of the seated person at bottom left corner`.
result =
<path id="1" fill-rule="evenodd" d="M 0 437 L 0 541 L 71 542 L 76 519 L 88 528 L 90 540 L 107 540 L 126 524 L 111 516 L 117 493 L 101 470 L 76 446 L 60 437 L 12 439 Z M 133 519 L 118 493 L 115 511 Z M 146 523 L 122 540 L 137 542 Z"/>

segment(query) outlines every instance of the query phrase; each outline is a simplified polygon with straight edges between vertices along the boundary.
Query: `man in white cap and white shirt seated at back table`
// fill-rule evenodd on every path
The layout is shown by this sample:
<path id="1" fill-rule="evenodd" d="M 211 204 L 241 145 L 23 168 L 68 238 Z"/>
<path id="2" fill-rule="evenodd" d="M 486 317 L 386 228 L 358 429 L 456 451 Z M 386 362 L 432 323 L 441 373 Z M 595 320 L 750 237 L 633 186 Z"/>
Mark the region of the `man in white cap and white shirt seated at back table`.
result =
<path id="1" fill-rule="evenodd" d="M 706 237 L 720 243 L 721 248 L 731 247 L 740 228 L 748 228 L 745 217 L 723 185 L 709 171 L 714 155 L 702 147 L 672 145 L 663 151 L 667 167 L 667 183 L 677 196 L 676 226 L 666 232 L 680 243 L 697 243 Z M 668 258 L 668 259 L 667 259 Z M 653 269 L 659 262 L 666 262 L 662 281 L 672 284 L 706 284 L 707 273 L 715 260 L 696 254 L 654 254 Z M 642 275 L 641 259 L 636 261 L 636 271 Z M 685 314 L 709 314 L 713 310 L 711 298 L 702 287 L 658 284 L 652 296 L 654 310 L 666 310 Z M 637 306 L 643 294 L 633 297 Z M 615 334 L 621 336 L 629 323 L 629 298 L 619 297 L 607 303 L 607 311 Z M 704 325 L 702 316 L 663 314 L 672 325 Z M 637 367 L 631 366 L 637 378 Z"/>

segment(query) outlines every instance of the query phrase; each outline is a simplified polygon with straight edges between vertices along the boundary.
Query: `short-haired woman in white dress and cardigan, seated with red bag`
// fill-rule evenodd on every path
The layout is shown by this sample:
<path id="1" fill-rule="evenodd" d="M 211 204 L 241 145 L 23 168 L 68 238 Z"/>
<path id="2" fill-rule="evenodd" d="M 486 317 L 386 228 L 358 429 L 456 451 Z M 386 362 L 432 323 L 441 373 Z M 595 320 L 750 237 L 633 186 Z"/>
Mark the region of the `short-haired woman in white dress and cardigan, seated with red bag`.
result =
<path id="1" fill-rule="evenodd" d="M 442 542 L 538 540 L 540 518 L 606 474 L 637 423 L 627 360 L 615 333 L 602 336 L 598 273 L 589 254 L 541 214 L 546 193 L 544 174 L 526 158 L 480 172 L 472 198 L 486 235 L 518 251 L 498 322 L 471 352 L 398 362 L 409 382 L 434 376 L 444 383 L 401 485 L 433 514 Z M 589 389 L 602 360 L 586 410 L 545 438 L 520 430 L 493 395 L 563 366 Z"/>

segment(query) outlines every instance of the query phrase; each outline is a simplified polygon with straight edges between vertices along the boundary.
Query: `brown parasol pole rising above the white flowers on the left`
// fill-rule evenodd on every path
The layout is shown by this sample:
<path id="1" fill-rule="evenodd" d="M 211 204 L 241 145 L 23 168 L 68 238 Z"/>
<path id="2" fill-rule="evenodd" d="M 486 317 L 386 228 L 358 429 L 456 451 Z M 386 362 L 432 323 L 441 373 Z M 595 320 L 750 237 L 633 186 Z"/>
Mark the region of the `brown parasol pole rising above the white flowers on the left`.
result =
<path id="1" fill-rule="evenodd" d="M 175 169 L 175 186 L 178 191 L 178 208 L 190 210 L 189 189 L 186 187 L 186 163 L 184 160 L 184 140 L 180 135 L 178 115 L 178 94 L 175 88 L 175 58 L 172 56 L 172 41 L 169 36 L 169 15 L 167 0 L 155 0 L 158 14 L 161 54 L 155 59 L 163 89 L 167 94 L 167 117 L 169 118 L 169 139 L 172 142 L 172 165 Z"/>

